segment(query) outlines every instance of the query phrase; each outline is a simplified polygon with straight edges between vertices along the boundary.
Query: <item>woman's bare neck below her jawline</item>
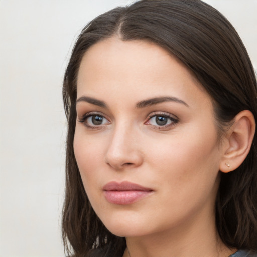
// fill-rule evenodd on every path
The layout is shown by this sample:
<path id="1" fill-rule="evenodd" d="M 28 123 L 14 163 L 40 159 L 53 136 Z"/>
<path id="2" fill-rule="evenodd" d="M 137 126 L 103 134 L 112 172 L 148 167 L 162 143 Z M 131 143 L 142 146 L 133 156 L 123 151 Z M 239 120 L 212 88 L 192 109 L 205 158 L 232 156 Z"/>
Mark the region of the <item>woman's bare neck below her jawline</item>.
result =
<path id="1" fill-rule="evenodd" d="M 220 240 L 215 216 L 206 213 L 169 230 L 127 237 L 126 243 L 123 257 L 228 257 L 235 252 Z"/>

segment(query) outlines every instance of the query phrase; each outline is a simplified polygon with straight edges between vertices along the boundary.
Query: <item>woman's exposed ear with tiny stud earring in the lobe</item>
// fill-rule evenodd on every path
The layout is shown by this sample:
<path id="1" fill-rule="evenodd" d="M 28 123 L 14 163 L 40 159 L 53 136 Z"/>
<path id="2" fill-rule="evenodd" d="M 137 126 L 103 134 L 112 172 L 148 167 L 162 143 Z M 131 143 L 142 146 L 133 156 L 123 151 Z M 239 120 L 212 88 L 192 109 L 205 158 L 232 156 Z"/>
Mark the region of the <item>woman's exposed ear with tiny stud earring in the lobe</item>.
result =
<path id="1" fill-rule="evenodd" d="M 238 168 L 248 155 L 255 133 L 255 120 L 249 110 L 239 112 L 228 130 L 224 144 L 220 171 L 230 172 Z"/>

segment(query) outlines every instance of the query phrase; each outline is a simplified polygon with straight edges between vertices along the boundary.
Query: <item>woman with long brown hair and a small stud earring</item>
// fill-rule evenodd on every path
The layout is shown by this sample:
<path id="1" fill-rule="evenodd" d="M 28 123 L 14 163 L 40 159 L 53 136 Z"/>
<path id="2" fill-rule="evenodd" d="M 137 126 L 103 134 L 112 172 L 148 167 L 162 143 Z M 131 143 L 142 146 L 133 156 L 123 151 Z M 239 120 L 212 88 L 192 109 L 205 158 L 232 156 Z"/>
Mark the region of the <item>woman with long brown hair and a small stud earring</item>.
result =
<path id="1" fill-rule="evenodd" d="M 89 23 L 63 84 L 68 254 L 255 256 L 256 91 L 239 36 L 200 0 Z"/>

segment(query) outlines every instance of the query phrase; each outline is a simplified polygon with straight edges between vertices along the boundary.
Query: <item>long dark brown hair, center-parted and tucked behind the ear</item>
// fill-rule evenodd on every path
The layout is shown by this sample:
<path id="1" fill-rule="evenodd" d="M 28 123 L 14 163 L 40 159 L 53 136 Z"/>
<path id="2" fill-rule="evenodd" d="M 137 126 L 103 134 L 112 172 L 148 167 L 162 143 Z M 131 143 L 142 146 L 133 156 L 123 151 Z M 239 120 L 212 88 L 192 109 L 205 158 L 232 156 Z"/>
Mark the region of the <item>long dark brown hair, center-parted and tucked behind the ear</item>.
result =
<path id="1" fill-rule="evenodd" d="M 212 97 L 222 133 L 242 110 L 257 120 L 256 77 L 247 51 L 233 26 L 200 0 L 141 0 L 118 7 L 91 21 L 73 48 L 63 82 L 68 120 L 66 188 L 62 233 L 69 255 L 121 256 L 125 239 L 111 234 L 92 209 L 73 151 L 76 123 L 76 80 L 81 59 L 97 42 L 147 40 L 175 55 Z M 233 172 L 221 174 L 216 199 L 216 226 L 232 248 L 257 251 L 257 137 L 247 158 Z M 92 249 L 95 249 L 92 251 Z"/>

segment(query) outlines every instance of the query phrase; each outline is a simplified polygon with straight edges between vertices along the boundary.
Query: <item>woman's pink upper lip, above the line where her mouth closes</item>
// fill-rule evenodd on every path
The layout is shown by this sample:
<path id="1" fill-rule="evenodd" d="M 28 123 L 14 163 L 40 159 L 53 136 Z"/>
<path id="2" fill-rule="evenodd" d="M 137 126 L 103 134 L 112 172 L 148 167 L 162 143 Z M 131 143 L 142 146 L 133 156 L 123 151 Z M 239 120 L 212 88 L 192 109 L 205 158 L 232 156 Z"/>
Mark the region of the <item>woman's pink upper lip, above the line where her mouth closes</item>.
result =
<path id="1" fill-rule="evenodd" d="M 131 191 L 131 190 L 153 191 L 153 189 L 151 188 L 147 188 L 129 181 L 123 181 L 121 183 L 116 181 L 111 181 L 106 185 L 104 185 L 103 190 L 104 191 Z"/>

